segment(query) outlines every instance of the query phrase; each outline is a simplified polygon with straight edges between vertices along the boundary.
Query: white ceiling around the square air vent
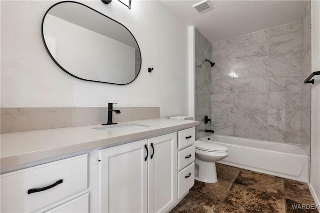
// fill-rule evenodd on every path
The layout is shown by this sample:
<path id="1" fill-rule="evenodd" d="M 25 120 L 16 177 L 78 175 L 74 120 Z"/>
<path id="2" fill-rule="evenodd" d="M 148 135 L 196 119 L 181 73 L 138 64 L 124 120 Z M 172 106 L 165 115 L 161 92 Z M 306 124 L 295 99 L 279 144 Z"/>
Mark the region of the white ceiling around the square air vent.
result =
<path id="1" fill-rule="evenodd" d="M 161 0 L 177 17 L 194 25 L 211 43 L 298 21 L 303 0 L 210 0 L 213 8 L 198 13 L 200 0 Z"/>

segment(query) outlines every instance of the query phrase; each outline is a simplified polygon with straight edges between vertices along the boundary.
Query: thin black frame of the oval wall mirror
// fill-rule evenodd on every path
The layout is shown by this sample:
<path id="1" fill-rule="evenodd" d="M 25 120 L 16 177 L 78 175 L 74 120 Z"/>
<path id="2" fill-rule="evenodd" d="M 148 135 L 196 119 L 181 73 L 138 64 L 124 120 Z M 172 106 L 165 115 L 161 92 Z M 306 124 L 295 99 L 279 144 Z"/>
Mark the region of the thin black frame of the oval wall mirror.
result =
<path id="1" fill-rule="evenodd" d="M 44 14 L 44 16 L 43 16 L 43 18 L 42 18 L 42 22 L 41 22 L 41 38 L 42 38 L 44 47 L 45 47 L 47 53 L 49 54 L 50 58 L 53 60 L 53 62 L 54 62 L 60 69 L 62 69 L 64 72 L 66 72 L 67 74 L 71 75 L 72 77 L 75 77 L 75 78 L 80 79 L 80 80 L 92 81 L 92 82 L 99 82 L 99 83 L 107 83 L 107 84 L 116 84 L 116 85 L 126 85 L 126 84 L 129 84 L 129 83 L 132 82 L 132 81 L 130 81 L 130 82 L 125 83 L 125 84 L 118 84 L 118 83 L 111 83 L 111 82 L 104 82 L 104 81 L 95 81 L 95 80 L 88 80 L 88 79 L 84 79 L 84 78 L 79 78 L 79 77 L 73 75 L 72 73 L 66 71 L 66 70 L 54 59 L 54 57 L 51 55 L 48 47 L 46 46 L 46 43 L 45 43 L 45 40 L 44 40 L 44 35 L 43 35 L 43 22 L 44 22 L 44 18 L 45 18 L 45 16 L 46 16 L 46 14 L 48 13 L 48 11 L 49 11 L 53 6 L 55 6 L 55 5 L 57 5 L 57 4 L 60 4 L 60 3 L 65 3 L 65 2 L 72 2 L 72 3 L 77 3 L 77 4 L 80 4 L 80 5 L 83 5 L 83 6 L 87 7 L 87 8 L 89 8 L 89 9 L 91 9 L 91 10 L 93 10 L 93 11 L 95 11 L 95 12 L 101 14 L 101 15 L 103 15 L 104 17 L 109 18 L 109 19 L 111 19 L 112 21 L 114 21 L 114 22 L 122 25 L 126 30 L 128 30 L 128 32 L 132 35 L 133 39 L 135 40 L 136 45 L 137 45 L 137 47 L 138 47 L 138 49 L 139 49 L 139 54 L 140 54 L 140 68 L 139 68 L 139 71 L 138 71 L 137 75 L 136 75 L 136 76 L 134 77 L 134 79 L 132 80 L 132 81 L 134 81 L 134 80 L 136 79 L 136 77 L 137 77 L 137 76 L 139 75 L 139 73 L 140 73 L 141 64 L 142 64 L 142 57 L 141 57 L 141 51 L 140 51 L 140 47 L 139 47 L 139 45 L 138 45 L 138 42 L 136 41 L 136 39 L 135 39 L 135 37 L 133 36 L 133 34 L 131 33 L 131 31 L 130 31 L 128 28 L 126 28 L 123 24 L 121 24 L 120 22 L 118 22 L 118 21 L 116 21 L 116 20 L 114 20 L 114 19 L 112 19 L 112 18 L 110 18 L 110 17 L 102 14 L 101 12 L 96 11 L 95 9 L 93 9 L 93 8 L 91 8 L 91 7 L 83 4 L 83 3 L 79 3 L 79 2 L 76 2 L 76 1 L 72 1 L 72 0 L 60 1 L 60 2 L 57 2 L 57 3 L 53 4 L 52 6 L 50 6 L 50 8 L 48 8 L 48 9 L 46 10 L 46 12 L 45 12 L 45 14 Z"/>

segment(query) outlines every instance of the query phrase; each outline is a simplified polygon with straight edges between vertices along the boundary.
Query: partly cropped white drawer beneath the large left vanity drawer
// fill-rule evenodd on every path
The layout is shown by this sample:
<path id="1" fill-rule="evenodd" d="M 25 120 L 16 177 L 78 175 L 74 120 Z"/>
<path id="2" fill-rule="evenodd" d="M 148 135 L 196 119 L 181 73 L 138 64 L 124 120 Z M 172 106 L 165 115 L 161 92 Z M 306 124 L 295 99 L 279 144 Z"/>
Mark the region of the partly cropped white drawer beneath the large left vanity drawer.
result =
<path id="1" fill-rule="evenodd" d="M 89 212 L 89 193 L 66 202 L 46 213 L 88 213 Z"/>

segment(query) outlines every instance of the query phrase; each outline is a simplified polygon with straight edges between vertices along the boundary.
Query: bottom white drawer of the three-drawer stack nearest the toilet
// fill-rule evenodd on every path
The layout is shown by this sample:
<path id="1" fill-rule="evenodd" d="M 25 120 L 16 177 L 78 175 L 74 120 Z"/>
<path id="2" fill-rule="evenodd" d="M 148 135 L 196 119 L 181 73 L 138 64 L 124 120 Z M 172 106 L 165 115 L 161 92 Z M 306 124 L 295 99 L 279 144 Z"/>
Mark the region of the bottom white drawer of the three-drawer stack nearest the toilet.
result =
<path id="1" fill-rule="evenodd" d="M 178 172 L 178 199 L 194 185 L 194 163 Z"/>

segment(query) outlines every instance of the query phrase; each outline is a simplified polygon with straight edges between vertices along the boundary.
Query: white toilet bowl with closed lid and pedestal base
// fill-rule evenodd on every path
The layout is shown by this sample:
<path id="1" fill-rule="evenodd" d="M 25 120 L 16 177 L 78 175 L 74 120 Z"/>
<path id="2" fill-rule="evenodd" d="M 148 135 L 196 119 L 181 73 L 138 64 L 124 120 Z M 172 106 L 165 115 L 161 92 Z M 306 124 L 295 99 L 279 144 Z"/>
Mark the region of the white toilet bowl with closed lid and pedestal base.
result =
<path id="1" fill-rule="evenodd" d="M 228 156 L 228 148 L 206 141 L 195 141 L 195 160 L 198 174 L 194 179 L 205 183 L 217 182 L 215 162 Z"/>

